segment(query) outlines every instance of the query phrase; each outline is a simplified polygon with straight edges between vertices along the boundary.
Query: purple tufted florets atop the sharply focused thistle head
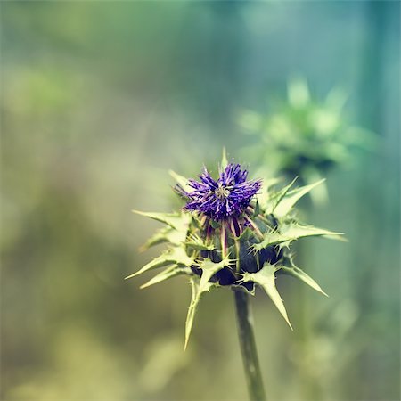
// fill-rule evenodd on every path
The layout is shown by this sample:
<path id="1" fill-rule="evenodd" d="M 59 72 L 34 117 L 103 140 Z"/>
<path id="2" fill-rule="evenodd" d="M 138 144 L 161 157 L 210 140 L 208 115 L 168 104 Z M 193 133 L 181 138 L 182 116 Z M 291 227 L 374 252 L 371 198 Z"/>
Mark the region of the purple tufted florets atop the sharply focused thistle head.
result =
<path id="1" fill-rule="evenodd" d="M 188 180 L 192 192 L 181 185 L 176 185 L 176 192 L 187 199 L 185 210 L 200 212 L 216 221 L 225 220 L 241 215 L 262 186 L 261 180 L 247 181 L 247 176 L 248 171 L 241 170 L 240 164 L 229 163 L 217 181 L 203 168 L 200 181 Z"/>

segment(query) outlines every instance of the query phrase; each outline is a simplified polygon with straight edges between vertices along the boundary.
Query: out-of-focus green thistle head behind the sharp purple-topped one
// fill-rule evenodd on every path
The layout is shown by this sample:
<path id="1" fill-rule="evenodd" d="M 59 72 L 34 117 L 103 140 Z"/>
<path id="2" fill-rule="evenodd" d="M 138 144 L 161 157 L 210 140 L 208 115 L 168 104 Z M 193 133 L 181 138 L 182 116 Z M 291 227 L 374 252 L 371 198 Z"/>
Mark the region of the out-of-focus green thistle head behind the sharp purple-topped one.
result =
<path id="1" fill-rule="evenodd" d="M 288 102 L 279 110 L 265 115 L 245 110 L 238 116 L 244 132 L 258 135 L 258 143 L 246 153 L 259 160 L 262 169 L 285 175 L 299 176 L 311 184 L 334 167 L 349 165 L 355 159 L 353 151 L 373 151 L 377 135 L 361 127 L 350 126 L 343 116 L 347 94 L 339 87 L 331 89 L 323 102 L 312 98 L 305 78 L 291 78 L 287 84 Z M 313 200 L 326 201 L 325 184 Z"/>

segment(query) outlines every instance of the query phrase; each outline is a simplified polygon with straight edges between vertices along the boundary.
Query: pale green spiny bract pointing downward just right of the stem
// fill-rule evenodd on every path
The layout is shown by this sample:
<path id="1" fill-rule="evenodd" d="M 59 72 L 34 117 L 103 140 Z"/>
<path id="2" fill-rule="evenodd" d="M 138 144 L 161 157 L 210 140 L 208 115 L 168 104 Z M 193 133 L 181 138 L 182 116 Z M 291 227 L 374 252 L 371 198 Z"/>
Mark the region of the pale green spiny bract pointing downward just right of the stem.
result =
<path id="1" fill-rule="evenodd" d="M 275 307 L 277 307 L 279 312 L 282 314 L 282 317 L 292 330 L 284 303 L 282 302 L 282 298 L 280 297 L 280 294 L 275 286 L 275 272 L 277 269 L 278 268 L 276 266 L 266 263 L 257 273 L 245 273 L 243 275 L 242 282 L 255 282 L 260 285 L 266 291 L 266 294 L 269 296 L 269 298 L 272 299 Z"/>

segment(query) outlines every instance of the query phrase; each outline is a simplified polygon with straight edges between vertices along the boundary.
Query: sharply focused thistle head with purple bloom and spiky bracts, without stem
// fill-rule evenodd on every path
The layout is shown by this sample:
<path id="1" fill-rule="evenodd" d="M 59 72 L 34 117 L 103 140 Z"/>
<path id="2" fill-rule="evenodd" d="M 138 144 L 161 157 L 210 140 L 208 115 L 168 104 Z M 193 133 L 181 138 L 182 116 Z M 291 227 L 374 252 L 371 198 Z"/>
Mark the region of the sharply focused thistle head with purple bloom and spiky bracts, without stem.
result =
<path id="1" fill-rule="evenodd" d="M 321 287 L 295 266 L 291 244 L 304 237 L 337 238 L 333 233 L 299 222 L 294 205 L 317 184 L 293 188 L 294 181 L 274 190 L 277 180 L 248 180 L 240 164 L 227 163 L 225 154 L 215 179 L 203 168 L 199 180 L 186 179 L 174 172 L 176 193 L 185 201 L 176 213 L 144 213 L 164 224 L 144 245 L 165 242 L 168 249 L 135 274 L 165 267 L 141 288 L 166 281 L 176 275 L 190 277 L 192 300 L 185 324 L 187 346 L 194 315 L 201 297 L 216 288 L 255 293 L 262 287 L 290 325 L 275 280 L 289 274 L 323 294 Z"/>

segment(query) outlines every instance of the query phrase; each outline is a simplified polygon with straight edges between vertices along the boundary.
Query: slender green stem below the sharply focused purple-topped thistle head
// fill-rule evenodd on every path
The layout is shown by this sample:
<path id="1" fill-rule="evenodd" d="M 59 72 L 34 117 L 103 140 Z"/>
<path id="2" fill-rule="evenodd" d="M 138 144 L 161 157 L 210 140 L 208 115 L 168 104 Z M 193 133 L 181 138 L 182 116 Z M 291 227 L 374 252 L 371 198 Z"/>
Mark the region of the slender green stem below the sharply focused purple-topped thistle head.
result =
<path id="1" fill-rule="evenodd" d="M 253 334 L 249 295 L 241 289 L 234 289 L 234 297 L 242 361 L 245 369 L 250 401 L 266 401 L 255 336 Z"/>

